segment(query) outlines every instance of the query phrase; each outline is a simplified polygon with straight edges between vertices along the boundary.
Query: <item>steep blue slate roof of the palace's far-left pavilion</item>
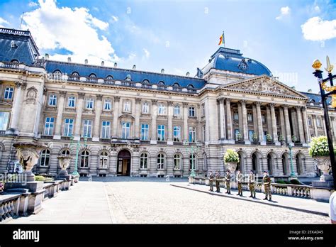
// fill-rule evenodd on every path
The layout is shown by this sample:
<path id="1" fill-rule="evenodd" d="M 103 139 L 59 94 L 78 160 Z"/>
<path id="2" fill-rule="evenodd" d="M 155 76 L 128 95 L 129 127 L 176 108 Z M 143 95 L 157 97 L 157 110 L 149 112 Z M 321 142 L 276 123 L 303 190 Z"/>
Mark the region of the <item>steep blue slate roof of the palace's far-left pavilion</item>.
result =
<path id="1" fill-rule="evenodd" d="M 0 28 L 0 61 L 32 65 L 40 55 L 29 31 Z"/>

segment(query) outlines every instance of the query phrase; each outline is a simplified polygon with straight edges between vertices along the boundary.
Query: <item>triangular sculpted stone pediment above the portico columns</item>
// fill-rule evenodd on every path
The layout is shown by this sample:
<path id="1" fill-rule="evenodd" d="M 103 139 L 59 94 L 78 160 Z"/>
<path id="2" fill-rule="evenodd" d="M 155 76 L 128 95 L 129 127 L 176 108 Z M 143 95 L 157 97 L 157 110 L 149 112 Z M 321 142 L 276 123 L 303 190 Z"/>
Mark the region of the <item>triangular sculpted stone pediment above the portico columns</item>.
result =
<path id="1" fill-rule="evenodd" d="M 254 77 L 252 79 L 246 79 L 240 82 L 233 82 L 230 84 L 225 84 L 223 89 L 232 89 L 241 92 L 251 92 L 258 94 L 271 94 L 280 97 L 295 97 L 308 99 L 306 95 L 292 89 L 284 83 L 276 81 L 271 77 L 261 76 Z"/>

